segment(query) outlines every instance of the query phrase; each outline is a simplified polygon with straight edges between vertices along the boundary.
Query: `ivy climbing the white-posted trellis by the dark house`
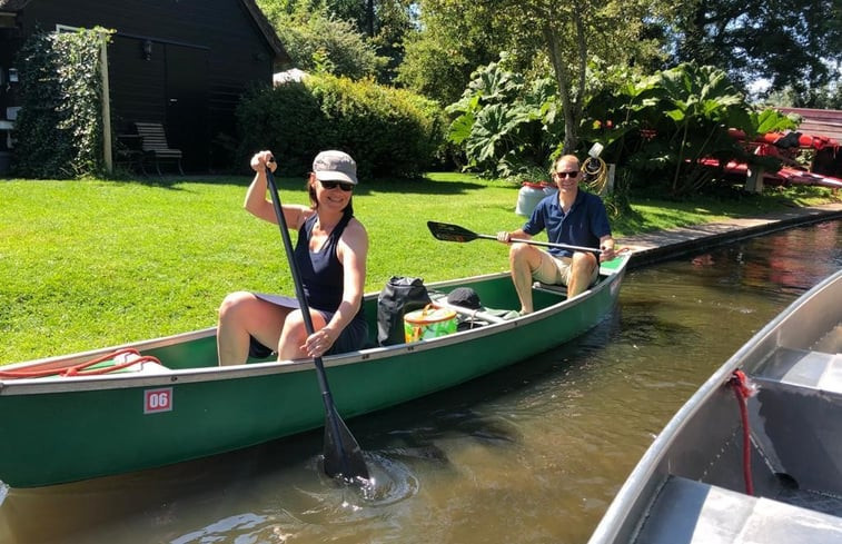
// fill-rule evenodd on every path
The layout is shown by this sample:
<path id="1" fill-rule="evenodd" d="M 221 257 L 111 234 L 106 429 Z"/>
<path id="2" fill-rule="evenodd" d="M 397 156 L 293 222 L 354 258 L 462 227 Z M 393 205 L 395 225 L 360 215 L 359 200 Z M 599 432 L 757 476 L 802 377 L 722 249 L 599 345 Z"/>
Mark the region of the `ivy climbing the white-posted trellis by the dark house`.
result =
<path id="1" fill-rule="evenodd" d="M 78 178 L 103 171 L 100 47 L 110 33 L 101 28 L 37 32 L 21 48 L 17 176 Z"/>

